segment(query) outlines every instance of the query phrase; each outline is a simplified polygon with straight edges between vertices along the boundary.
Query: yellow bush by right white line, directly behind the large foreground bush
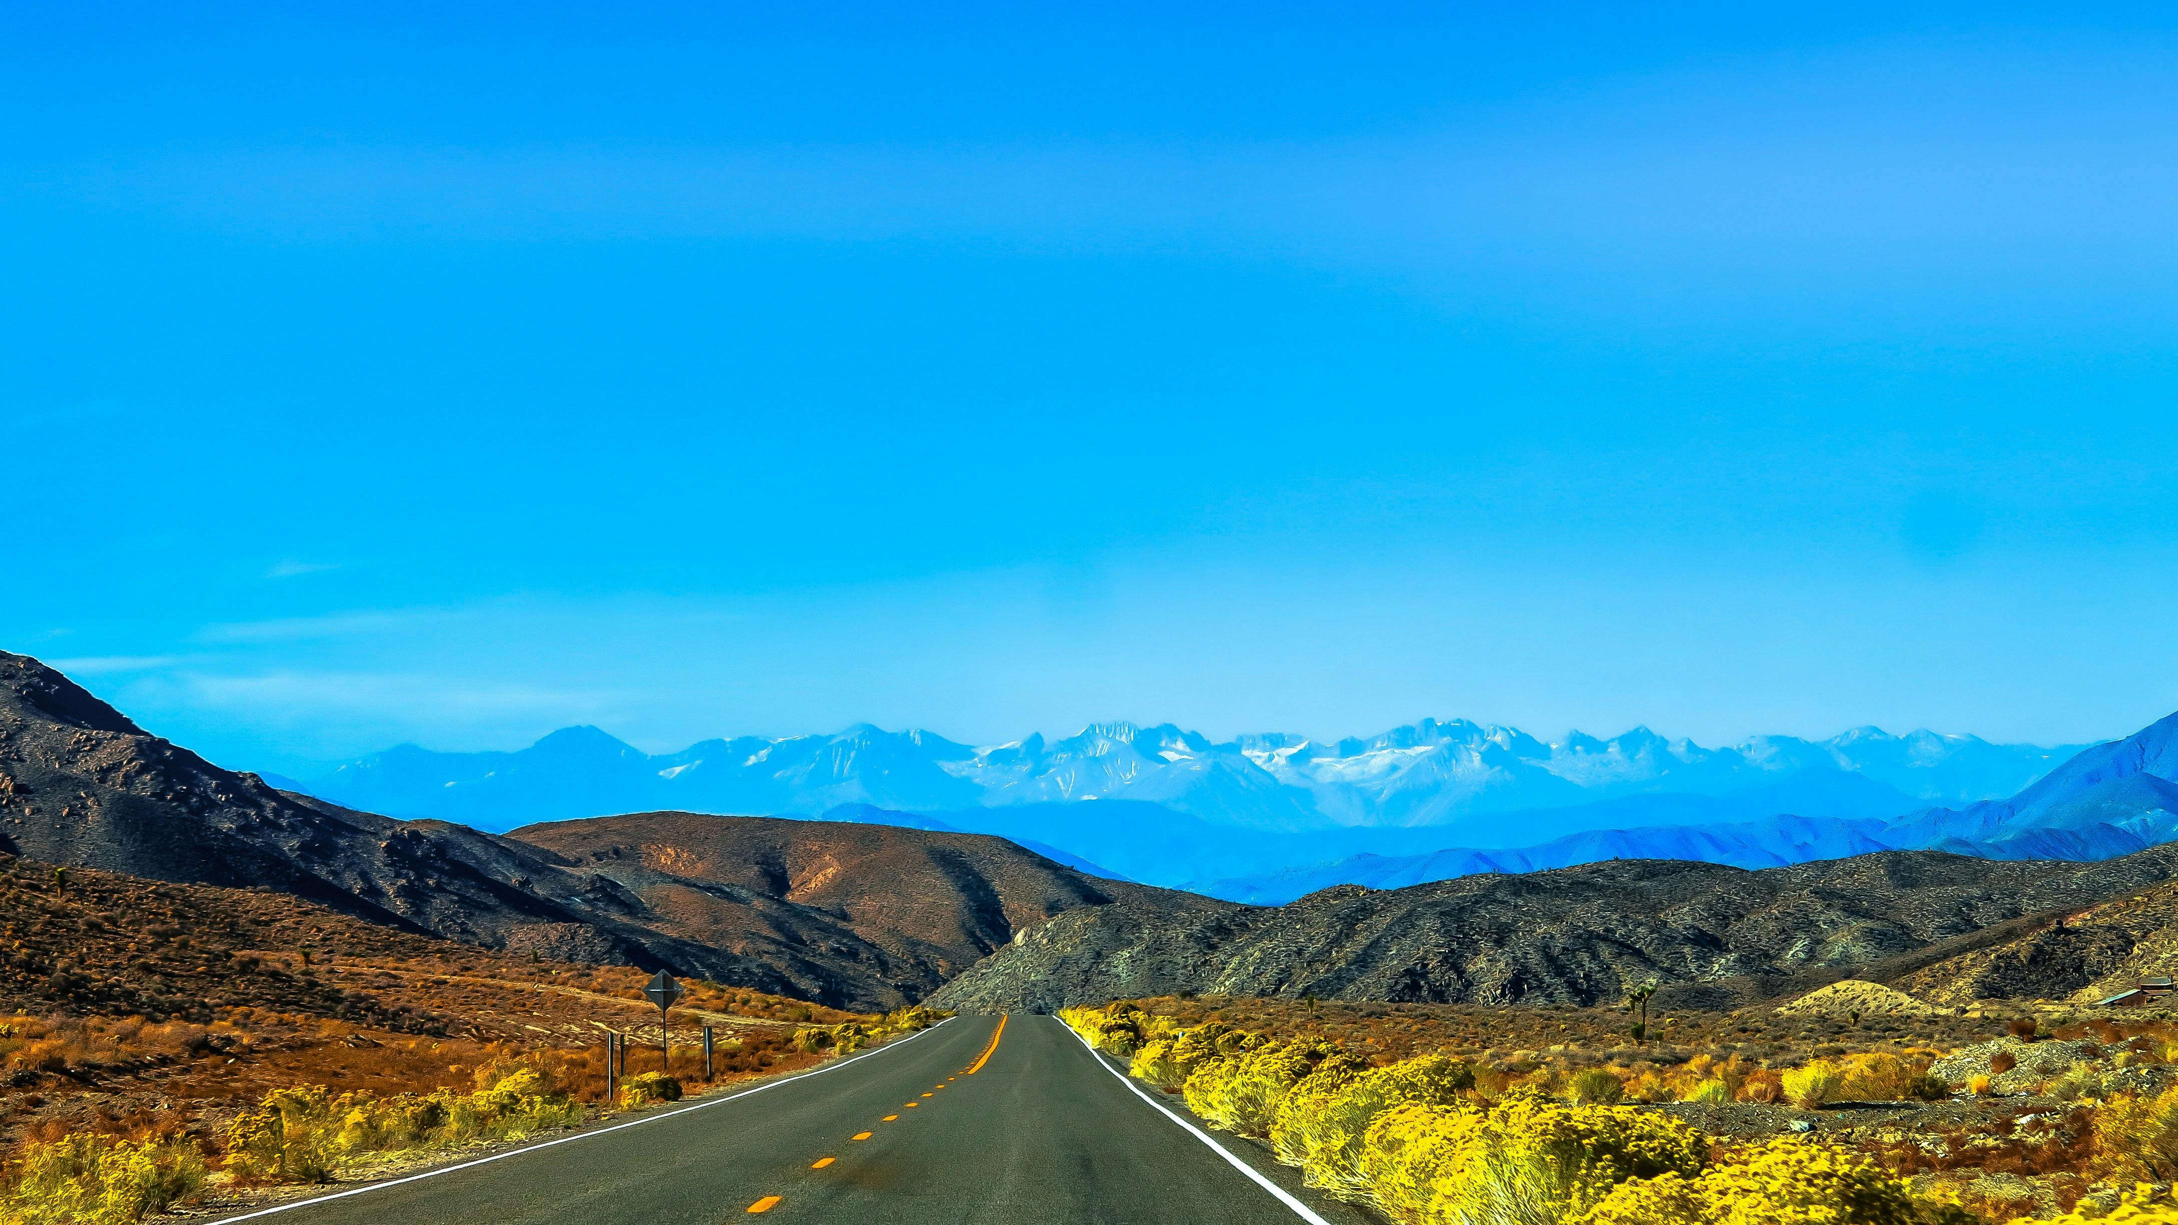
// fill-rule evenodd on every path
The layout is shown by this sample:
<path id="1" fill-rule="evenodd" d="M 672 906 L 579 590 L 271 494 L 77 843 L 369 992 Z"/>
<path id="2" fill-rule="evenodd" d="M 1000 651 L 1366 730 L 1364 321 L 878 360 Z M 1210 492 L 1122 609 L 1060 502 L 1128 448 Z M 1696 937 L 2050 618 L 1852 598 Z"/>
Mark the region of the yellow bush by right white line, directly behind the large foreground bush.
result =
<path id="1" fill-rule="evenodd" d="M 1324 1059 L 1326 1064 L 1331 1059 Z M 1309 1186 L 1339 1194 L 1366 1190 L 1355 1157 L 1368 1125 L 1394 1105 L 1459 1105 L 1475 1070 L 1446 1055 L 1420 1055 L 1359 1075 L 1331 1068 L 1309 1075 L 1281 1103 L 1270 1129 L 1278 1160 L 1300 1166 Z"/>

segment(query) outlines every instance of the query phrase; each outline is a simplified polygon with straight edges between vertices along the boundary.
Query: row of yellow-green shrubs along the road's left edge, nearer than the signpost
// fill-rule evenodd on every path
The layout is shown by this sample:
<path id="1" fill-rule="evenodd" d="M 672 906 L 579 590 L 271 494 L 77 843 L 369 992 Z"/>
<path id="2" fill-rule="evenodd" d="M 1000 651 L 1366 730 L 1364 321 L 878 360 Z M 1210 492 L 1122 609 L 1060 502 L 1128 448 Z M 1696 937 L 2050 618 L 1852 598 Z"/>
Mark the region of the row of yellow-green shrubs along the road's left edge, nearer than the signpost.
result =
<path id="1" fill-rule="evenodd" d="M 325 1085 L 274 1090 L 227 1129 L 227 1168 L 244 1184 L 311 1184 L 372 1153 L 518 1138 L 582 1118 L 582 1105 L 534 1068 L 494 1064 L 477 1072 L 477 1085 L 383 1099 L 331 1096 Z"/>

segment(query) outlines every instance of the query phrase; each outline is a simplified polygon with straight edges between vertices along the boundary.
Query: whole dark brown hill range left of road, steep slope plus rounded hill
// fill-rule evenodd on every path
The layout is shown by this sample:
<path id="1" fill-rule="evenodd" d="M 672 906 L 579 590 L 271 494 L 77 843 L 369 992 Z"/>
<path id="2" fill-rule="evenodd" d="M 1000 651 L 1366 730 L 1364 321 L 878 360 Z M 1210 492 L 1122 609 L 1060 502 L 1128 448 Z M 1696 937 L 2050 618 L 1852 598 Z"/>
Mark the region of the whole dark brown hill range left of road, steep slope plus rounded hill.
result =
<path id="1" fill-rule="evenodd" d="M 769 833 L 721 839 L 741 826 Z M 1154 894 L 1109 894 L 1109 883 L 984 835 L 682 815 L 531 833 L 553 846 L 277 791 L 144 732 L 35 658 L 0 652 L 0 850 L 46 863 L 274 889 L 488 948 L 664 966 L 858 1007 L 919 998 L 1019 922 Z M 738 854 L 786 876 L 747 876 L 732 868 Z M 823 868 L 793 868 L 828 861 L 867 874 L 825 887 L 806 883 Z M 862 889 L 854 905 L 849 889 Z"/>

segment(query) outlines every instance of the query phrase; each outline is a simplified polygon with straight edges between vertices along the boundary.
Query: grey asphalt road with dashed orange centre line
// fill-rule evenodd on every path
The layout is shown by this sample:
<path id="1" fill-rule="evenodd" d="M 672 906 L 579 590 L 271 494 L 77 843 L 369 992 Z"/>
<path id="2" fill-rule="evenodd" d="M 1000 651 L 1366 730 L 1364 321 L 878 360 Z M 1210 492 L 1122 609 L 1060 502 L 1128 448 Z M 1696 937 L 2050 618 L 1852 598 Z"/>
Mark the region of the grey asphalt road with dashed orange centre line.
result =
<path id="1" fill-rule="evenodd" d="M 1176 1109 L 1185 1116 L 1185 1107 Z M 266 1225 L 1298 1223 L 1050 1016 L 960 1016 L 817 1075 Z M 1289 1171 L 1252 1168 L 1289 1190 Z M 1359 1216 L 1298 1192 L 1320 1221 Z"/>

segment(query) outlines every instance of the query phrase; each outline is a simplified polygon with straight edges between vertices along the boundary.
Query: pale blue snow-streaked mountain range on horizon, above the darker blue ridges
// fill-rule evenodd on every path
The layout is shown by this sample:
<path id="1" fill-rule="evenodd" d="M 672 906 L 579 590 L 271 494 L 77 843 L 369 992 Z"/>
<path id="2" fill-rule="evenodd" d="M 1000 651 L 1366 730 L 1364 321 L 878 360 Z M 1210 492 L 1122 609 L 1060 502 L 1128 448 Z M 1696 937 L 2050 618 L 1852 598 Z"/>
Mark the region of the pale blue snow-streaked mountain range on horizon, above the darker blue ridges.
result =
<path id="1" fill-rule="evenodd" d="M 1172 724 L 1093 724 L 1059 741 L 1032 735 L 984 748 L 858 724 L 839 735 L 712 739 L 653 756 L 597 728 L 564 728 L 516 752 L 401 745 L 294 787 L 357 809 L 479 828 L 647 809 L 960 813 L 1128 800 L 1189 824 L 1357 835 L 1355 846 L 1372 850 L 1525 846 L 1594 828 L 1775 813 L 1897 817 L 2012 796 L 2073 752 L 1877 728 L 1729 748 L 1647 728 L 1542 741 L 1516 728 L 1422 719 L 1366 739 L 1272 732 L 1222 743 Z M 1344 846 L 1339 837 L 1305 841 Z"/>

